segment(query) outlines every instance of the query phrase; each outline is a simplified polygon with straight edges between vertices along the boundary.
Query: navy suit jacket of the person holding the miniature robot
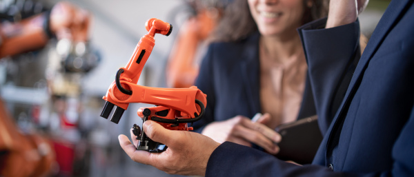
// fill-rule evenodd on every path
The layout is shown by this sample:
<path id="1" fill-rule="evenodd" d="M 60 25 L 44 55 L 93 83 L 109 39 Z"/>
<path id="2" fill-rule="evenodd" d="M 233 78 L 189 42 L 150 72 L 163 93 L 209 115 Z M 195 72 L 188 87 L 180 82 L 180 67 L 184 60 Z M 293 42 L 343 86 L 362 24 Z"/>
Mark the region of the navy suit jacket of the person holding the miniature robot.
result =
<path id="1" fill-rule="evenodd" d="M 223 143 L 210 156 L 206 176 L 414 176 L 413 18 L 412 0 L 391 1 L 355 72 L 344 74 L 351 83 L 313 165 L 300 167 Z M 313 76 L 323 72 L 318 65 L 349 52 L 341 45 L 359 33 L 355 23 L 317 30 L 321 22 L 299 29 L 313 88 L 324 87 Z M 350 34 L 355 37 L 343 37 Z M 318 112 L 324 112 L 326 96 L 314 93 Z"/>

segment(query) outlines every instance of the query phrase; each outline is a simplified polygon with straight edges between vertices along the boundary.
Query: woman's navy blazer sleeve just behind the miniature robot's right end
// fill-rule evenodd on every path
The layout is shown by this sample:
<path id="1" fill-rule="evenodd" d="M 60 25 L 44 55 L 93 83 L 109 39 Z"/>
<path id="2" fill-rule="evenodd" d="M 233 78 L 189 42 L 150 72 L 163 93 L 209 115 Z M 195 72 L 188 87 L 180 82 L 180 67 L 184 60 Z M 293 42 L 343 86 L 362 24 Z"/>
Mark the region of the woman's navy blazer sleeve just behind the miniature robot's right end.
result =
<path id="1" fill-rule="evenodd" d="M 213 48 L 214 44 L 208 46 L 206 56 L 201 61 L 199 76 L 195 81 L 195 85 L 203 92 L 207 94 L 207 106 L 204 116 L 193 124 L 194 132 L 201 133 L 208 123 L 214 120 L 214 108 L 215 108 L 215 89 L 214 89 L 214 67 L 213 67 Z"/>

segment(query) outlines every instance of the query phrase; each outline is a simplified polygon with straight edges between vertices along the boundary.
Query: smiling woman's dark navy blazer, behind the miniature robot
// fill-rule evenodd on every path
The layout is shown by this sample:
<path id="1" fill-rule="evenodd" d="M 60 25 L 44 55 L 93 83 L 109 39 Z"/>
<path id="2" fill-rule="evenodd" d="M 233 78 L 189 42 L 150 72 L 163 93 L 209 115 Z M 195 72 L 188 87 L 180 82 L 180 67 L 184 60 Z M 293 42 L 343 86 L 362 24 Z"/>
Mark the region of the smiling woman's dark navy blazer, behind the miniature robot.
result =
<path id="1" fill-rule="evenodd" d="M 195 85 L 207 94 L 206 114 L 194 123 L 201 132 L 208 123 L 237 115 L 252 118 L 262 112 L 259 98 L 259 33 L 239 42 L 212 43 Z M 315 115 L 309 79 L 298 118 Z M 327 126 L 324 128 L 325 131 Z"/>

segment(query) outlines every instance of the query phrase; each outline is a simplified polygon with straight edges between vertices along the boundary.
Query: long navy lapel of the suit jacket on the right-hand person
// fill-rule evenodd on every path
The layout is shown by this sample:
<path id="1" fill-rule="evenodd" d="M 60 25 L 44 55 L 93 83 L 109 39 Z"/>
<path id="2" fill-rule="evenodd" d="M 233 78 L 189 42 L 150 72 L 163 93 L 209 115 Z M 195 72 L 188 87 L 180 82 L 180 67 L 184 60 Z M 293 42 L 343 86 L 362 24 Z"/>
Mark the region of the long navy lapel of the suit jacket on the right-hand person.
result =
<path id="1" fill-rule="evenodd" d="M 357 85 L 359 79 L 362 79 L 362 76 L 364 75 L 364 70 L 368 65 L 368 61 L 370 61 L 373 54 L 375 54 L 377 48 L 379 48 L 382 41 L 384 41 L 386 34 L 388 34 L 388 32 L 393 28 L 395 23 L 398 22 L 400 16 L 403 15 L 401 12 L 404 11 L 404 8 L 406 8 L 406 5 L 409 1 L 410 0 L 391 1 L 391 3 L 388 5 L 388 8 L 384 12 L 380 22 L 377 24 L 377 27 L 375 28 L 370 41 L 368 41 L 364 53 L 362 54 L 357 67 L 355 68 L 355 74 L 353 75 L 351 83 L 348 86 L 348 90 L 346 91 L 344 101 L 342 101 L 341 105 L 339 106 L 339 111 L 335 115 L 333 125 L 331 125 L 331 127 L 328 129 L 328 132 L 330 132 L 330 134 L 328 142 L 326 143 L 326 160 L 328 160 L 327 155 L 332 150 L 331 148 L 335 147 L 335 145 L 330 145 L 330 143 L 334 136 L 339 136 L 340 134 L 340 132 L 336 131 L 340 128 L 339 125 L 342 125 L 342 119 L 345 118 L 345 108 L 348 107 L 348 105 L 346 104 L 349 101 L 351 101 L 350 98 L 357 90 L 357 87 L 355 87 L 355 85 Z"/>

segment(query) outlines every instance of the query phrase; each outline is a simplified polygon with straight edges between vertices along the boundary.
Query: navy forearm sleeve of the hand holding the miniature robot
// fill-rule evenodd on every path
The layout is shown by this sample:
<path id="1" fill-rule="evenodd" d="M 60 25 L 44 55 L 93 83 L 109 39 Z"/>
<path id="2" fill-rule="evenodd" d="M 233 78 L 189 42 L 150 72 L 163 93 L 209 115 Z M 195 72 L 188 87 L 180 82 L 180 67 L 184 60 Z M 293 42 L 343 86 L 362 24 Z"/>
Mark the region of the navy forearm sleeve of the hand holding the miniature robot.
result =
<path id="1" fill-rule="evenodd" d="M 206 176 L 326 176 L 336 174 L 318 165 L 294 165 L 257 149 L 225 142 L 211 154 Z M 335 176 L 335 175 L 334 175 Z"/>

